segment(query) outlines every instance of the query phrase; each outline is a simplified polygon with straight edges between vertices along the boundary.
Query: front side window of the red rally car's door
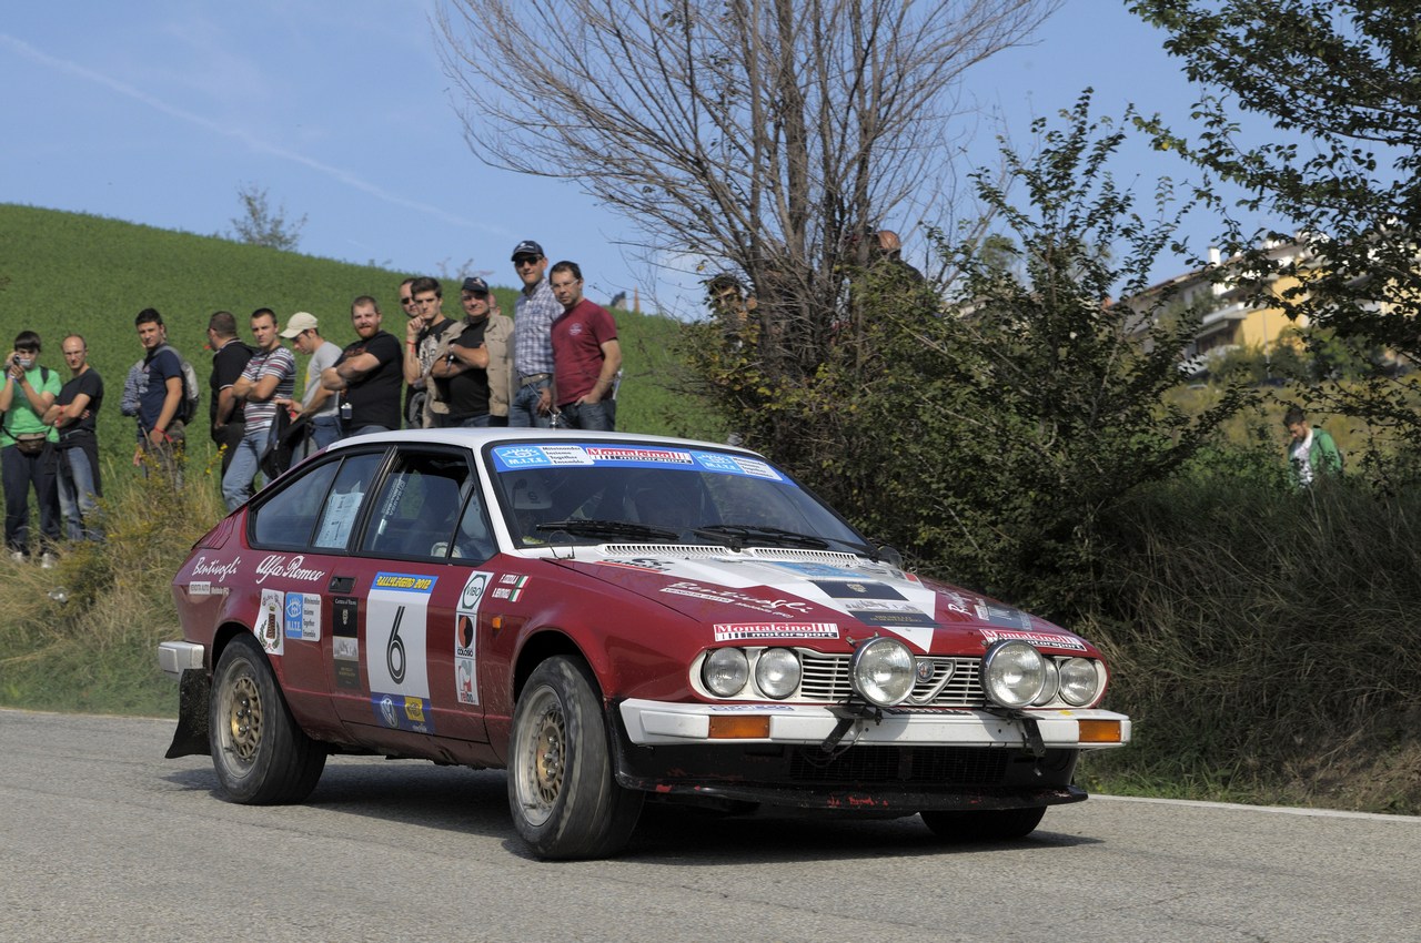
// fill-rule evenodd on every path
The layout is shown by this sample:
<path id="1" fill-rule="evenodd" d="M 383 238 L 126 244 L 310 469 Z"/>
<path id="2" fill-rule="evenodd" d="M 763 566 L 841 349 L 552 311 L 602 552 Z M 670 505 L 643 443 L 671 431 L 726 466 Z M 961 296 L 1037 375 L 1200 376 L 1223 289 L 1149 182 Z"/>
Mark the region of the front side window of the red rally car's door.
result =
<path id="1" fill-rule="evenodd" d="M 402 452 L 375 496 L 361 551 L 443 560 L 470 481 L 469 462 L 452 452 Z"/>

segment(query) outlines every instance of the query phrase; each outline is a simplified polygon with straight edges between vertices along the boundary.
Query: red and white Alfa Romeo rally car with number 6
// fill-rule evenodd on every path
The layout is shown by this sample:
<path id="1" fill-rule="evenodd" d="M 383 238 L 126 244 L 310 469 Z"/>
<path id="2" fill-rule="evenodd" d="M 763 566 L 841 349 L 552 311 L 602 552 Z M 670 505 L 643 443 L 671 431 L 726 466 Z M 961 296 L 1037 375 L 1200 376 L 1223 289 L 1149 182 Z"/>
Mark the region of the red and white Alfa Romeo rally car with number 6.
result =
<path id="1" fill-rule="evenodd" d="M 507 768 L 544 858 L 645 801 L 921 815 L 1015 838 L 1120 747 L 1071 632 L 918 578 L 762 456 L 567 430 L 345 439 L 173 578 L 169 757 L 300 802 L 331 753 Z"/>

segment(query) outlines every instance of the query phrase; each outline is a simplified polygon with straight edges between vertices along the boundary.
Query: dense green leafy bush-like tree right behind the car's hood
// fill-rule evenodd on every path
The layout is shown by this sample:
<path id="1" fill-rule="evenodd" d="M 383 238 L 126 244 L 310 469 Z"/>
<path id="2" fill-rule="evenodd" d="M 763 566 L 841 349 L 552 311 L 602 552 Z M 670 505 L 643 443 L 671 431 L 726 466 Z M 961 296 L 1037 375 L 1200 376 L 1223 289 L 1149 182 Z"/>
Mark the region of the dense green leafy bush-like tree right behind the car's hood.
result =
<path id="1" fill-rule="evenodd" d="M 1165 180 L 1152 219 L 1135 210 L 1108 173 L 1124 132 L 1091 121 L 1088 97 L 1064 124 L 1037 122 L 1032 162 L 1003 151 L 1025 207 L 976 175 L 998 231 L 959 246 L 938 234 L 963 273 L 946 297 L 891 258 L 845 273 L 851 329 L 813 389 L 776 408 L 814 415 L 831 435 L 794 470 L 870 533 L 919 565 L 1069 618 L 1088 604 L 1104 511 L 1178 470 L 1249 393 L 1228 388 L 1192 416 L 1164 403 L 1196 320 L 1160 317 L 1178 308 L 1168 293 L 1151 310 L 1110 298 L 1142 293 L 1188 206 Z M 763 321 L 732 308 L 696 329 L 696 366 L 732 426 L 760 422 Z"/>

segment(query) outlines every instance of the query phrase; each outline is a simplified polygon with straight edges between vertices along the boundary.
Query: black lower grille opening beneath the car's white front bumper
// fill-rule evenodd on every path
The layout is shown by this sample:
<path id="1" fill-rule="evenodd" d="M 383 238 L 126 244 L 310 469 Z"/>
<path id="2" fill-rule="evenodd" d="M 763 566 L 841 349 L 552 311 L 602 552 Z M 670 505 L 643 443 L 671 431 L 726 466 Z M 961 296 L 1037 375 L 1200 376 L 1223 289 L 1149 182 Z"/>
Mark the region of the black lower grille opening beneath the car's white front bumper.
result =
<path id="1" fill-rule="evenodd" d="M 968 747 L 850 747 L 830 756 L 818 747 L 790 750 L 794 783 L 915 783 L 998 785 L 1006 778 L 1006 750 Z"/>

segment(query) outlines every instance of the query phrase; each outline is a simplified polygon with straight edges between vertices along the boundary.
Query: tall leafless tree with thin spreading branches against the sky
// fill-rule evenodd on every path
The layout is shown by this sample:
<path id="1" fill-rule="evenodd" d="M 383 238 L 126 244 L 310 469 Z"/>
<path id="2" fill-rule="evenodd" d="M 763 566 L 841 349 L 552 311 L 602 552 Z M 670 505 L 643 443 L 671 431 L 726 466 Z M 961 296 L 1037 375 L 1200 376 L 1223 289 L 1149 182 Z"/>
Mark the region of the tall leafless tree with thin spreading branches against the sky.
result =
<path id="1" fill-rule="evenodd" d="M 577 182 L 655 258 L 756 298 L 756 372 L 809 382 L 854 328 L 845 273 L 951 200 L 952 95 L 1060 0 L 448 0 L 470 148 Z"/>

